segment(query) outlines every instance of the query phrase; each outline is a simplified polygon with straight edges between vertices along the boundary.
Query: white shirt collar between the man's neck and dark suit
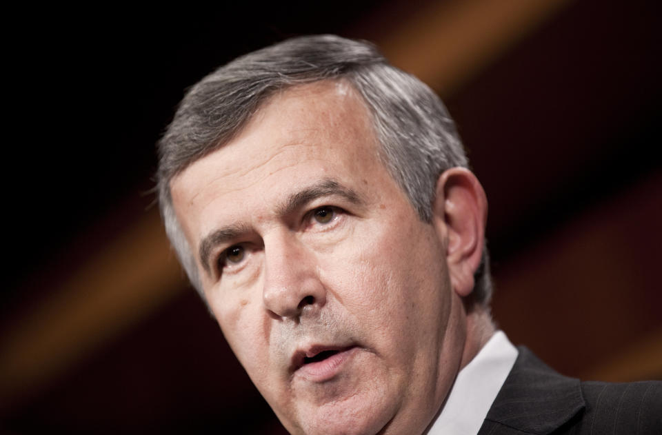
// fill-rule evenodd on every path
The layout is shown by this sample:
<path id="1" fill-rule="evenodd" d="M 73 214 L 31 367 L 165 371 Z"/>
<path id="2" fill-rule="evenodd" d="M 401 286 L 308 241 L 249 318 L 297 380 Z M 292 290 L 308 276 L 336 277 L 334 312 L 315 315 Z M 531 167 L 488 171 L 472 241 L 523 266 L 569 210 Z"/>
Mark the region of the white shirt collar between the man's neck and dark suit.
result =
<path id="1" fill-rule="evenodd" d="M 502 331 L 485 343 L 455 379 L 448 398 L 427 435 L 477 434 L 517 358 Z"/>

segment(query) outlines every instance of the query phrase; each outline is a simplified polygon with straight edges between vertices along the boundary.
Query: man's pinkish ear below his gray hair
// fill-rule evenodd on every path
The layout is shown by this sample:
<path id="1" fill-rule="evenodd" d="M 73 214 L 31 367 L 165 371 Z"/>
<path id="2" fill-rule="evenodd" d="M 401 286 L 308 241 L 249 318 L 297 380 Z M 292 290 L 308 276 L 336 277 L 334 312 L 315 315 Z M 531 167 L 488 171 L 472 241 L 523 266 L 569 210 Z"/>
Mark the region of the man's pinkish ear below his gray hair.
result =
<path id="1" fill-rule="evenodd" d="M 459 296 L 468 296 L 481 263 L 488 219 L 483 186 L 470 170 L 450 168 L 437 180 L 432 210 L 437 234 L 445 239 L 450 283 Z"/>

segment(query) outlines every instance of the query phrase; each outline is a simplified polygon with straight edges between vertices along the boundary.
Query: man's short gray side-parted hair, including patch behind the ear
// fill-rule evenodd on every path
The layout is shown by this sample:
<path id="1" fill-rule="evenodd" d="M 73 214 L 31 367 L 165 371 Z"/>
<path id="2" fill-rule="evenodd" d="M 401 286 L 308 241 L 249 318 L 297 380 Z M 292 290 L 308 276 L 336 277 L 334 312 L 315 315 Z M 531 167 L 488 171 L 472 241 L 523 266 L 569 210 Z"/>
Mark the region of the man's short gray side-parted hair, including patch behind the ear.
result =
<path id="1" fill-rule="evenodd" d="M 370 43 L 333 35 L 298 37 L 235 59 L 188 91 L 158 144 L 157 189 L 165 230 L 203 299 L 194 254 L 172 205 L 170 181 L 236 137 L 275 92 L 321 80 L 345 81 L 361 94 L 381 143 L 381 161 L 421 220 L 432 219 L 439 175 L 468 166 L 441 99 L 390 65 Z M 488 305 L 492 284 L 486 247 L 474 277 L 474 301 Z"/>

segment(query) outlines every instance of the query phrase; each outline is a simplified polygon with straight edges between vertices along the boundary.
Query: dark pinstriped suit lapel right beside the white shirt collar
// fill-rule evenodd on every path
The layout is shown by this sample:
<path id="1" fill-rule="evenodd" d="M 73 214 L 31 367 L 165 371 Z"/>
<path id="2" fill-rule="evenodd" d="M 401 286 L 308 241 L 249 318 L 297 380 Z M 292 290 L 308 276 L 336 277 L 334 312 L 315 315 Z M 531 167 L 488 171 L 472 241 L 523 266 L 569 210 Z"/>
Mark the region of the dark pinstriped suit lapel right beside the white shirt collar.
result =
<path id="1" fill-rule="evenodd" d="M 479 435 L 550 434 L 584 407 L 578 379 L 554 372 L 526 347 L 519 347 Z"/>

